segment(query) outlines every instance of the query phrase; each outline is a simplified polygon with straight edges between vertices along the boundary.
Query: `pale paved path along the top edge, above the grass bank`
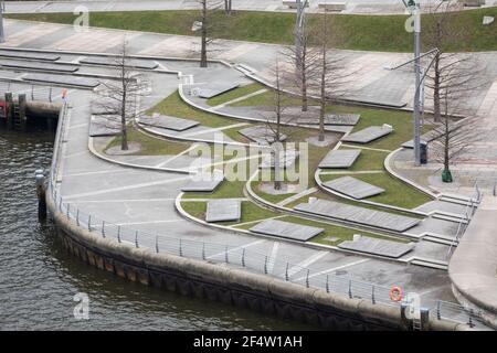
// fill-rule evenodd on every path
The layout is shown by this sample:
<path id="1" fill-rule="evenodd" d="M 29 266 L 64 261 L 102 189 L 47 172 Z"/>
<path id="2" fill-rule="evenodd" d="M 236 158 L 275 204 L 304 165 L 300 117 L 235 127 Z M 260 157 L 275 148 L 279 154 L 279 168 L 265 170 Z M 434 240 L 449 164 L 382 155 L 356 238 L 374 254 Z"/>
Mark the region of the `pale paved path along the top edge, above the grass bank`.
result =
<path id="1" fill-rule="evenodd" d="M 232 0 L 233 10 L 252 11 L 295 11 L 283 4 L 282 0 Z M 318 11 L 319 3 L 325 0 L 310 0 L 308 12 Z M 329 1 L 331 2 L 331 1 Z M 347 0 L 342 13 L 404 13 L 405 8 L 400 0 Z M 421 0 L 422 6 L 433 3 L 433 0 Z M 486 0 L 487 6 L 495 4 L 495 0 Z M 195 0 L 93 0 L 93 1 L 7 1 L 6 10 L 10 13 L 49 13 L 73 12 L 76 7 L 84 6 L 89 11 L 144 11 L 144 10 L 191 10 L 199 8 Z"/>

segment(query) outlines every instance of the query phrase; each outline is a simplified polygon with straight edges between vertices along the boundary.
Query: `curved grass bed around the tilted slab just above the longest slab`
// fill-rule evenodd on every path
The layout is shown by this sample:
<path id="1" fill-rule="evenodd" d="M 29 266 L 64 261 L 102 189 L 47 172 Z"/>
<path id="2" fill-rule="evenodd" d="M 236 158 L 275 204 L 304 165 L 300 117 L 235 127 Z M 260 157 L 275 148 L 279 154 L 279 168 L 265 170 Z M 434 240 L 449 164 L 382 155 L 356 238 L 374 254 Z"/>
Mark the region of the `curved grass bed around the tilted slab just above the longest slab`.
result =
<path id="1" fill-rule="evenodd" d="M 346 175 L 343 174 L 321 175 L 321 180 L 325 182 L 341 176 Z M 356 179 L 362 180 L 363 182 L 384 189 L 383 193 L 377 196 L 368 197 L 367 199 L 368 201 L 373 201 L 403 208 L 415 208 L 429 201 L 432 201 L 432 199 L 426 194 L 403 183 L 399 179 L 391 176 L 387 172 L 374 174 L 350 174 L 350 176 L 353 176 Z"/>

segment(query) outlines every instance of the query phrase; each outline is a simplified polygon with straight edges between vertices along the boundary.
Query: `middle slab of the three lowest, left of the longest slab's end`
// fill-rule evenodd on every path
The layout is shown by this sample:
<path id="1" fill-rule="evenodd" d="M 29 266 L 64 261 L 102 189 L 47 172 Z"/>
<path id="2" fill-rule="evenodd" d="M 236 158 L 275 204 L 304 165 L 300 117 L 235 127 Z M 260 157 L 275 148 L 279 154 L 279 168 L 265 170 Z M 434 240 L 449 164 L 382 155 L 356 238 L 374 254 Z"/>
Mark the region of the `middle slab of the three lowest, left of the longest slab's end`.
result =
<path id="1" fill-rule="evenodd" d="M 277 220 L 266 220 L 250 228 L 251 232 L 282 238 L 307 242 L 325 229 Z"/>

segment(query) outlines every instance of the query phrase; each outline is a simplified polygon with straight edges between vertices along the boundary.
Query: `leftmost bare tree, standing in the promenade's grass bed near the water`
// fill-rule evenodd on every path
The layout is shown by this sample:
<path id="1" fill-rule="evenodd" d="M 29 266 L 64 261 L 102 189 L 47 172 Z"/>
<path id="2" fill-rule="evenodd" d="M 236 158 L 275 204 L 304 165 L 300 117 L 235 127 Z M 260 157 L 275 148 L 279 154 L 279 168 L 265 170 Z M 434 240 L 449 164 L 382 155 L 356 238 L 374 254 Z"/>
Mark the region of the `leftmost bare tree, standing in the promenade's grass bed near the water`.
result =
<path id="1" fill-rule="evenodd" d="M 133 63 L 127 55 L 127 43 L 112 63 L 116 67 L 116 79 L 101 82 L 97 94 L 101 96 L 96 106 L 108 119 L 108 126 L 120 126 L 120 149 L 128 150 L 128 124 L 140 115 L 139 97 L 144 90 L 140 75 L 133 69 Z"/>

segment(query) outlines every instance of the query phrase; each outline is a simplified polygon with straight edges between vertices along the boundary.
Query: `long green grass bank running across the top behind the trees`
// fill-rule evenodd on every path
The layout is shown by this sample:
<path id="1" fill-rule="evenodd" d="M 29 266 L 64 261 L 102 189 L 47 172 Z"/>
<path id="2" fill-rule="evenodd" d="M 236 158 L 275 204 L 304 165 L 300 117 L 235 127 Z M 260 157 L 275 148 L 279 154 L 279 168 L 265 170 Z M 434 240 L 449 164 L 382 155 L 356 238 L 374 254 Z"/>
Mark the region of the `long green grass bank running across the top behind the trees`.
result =
<path id="1" fill-rule="evenodd" d="M 211 23 L 221 23 L 218 38 L 264 43 L 292 44 L 295 14 L 257 11 L 233 11 L 231 17 L 215 14 Z M 447 43 L 445 50 L 495 51 L 497 50 L 497 23 L 482 25 L 484 15 L 497 15 L 497 8 L 485 8 L 451 14 L 451 20 L 467 29 L 467 35 Z M 89 25 L 133 31 L 198 35 L 191 31 L 191 23 L 200 20 L 200 11 L 125 11 L 92 12 Z M 33 20 L 72 24 L 73 13 L 29 13 L 8 14 L 9 19 Z M 306 15 L 310 25 L 318 20 L 317 14 Z M 404 29 L 408 15 L 356 15 L 330 14 L 329 33 L 340 35 L 338 47 L 348 50 L 411 52 L 412 34 Z M 422 25 L 433 22 L 430 14 L 422 15 Z M 422 30 L 422 34 L 426 31 Z"/>

